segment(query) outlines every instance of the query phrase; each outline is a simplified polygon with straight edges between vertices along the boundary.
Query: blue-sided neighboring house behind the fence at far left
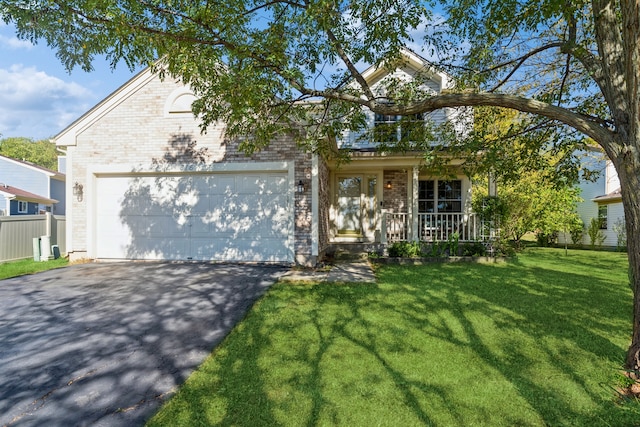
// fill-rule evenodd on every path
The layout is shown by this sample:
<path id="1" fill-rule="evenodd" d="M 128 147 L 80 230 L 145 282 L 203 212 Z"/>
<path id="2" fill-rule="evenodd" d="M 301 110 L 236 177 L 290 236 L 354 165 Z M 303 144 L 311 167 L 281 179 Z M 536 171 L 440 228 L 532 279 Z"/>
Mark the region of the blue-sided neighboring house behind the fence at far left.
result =
<path id="1" fill-rule="evenodd" d="M 0 155 L 0 191 L 4 215 L 65 214 L 63 173 Z"/>

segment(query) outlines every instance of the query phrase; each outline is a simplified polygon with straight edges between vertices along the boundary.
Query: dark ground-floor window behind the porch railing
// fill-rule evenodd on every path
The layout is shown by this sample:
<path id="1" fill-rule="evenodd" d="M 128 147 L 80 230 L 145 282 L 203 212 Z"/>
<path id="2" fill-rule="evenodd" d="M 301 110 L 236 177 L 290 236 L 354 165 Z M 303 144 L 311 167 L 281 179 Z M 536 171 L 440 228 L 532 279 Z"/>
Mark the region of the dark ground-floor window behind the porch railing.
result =
<path id="1" fill-rule="evenodd" d="M 419 181 L 418 212 L 462 212 L 462 181 Z"/>

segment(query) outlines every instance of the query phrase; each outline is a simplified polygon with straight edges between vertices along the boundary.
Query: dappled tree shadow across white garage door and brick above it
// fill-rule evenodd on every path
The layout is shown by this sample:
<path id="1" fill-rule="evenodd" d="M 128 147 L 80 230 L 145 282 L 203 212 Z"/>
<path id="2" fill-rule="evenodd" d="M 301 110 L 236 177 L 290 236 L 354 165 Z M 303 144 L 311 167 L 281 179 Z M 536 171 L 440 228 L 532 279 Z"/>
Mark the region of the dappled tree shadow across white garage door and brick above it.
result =
<path id="1" fill-rule="evenodd" d="M 207 173 L 207 148 L 174 135 L 157 173 L 121 178 L 118 229 L 129 259 L 291 259 L 288 186 L 282 174 Z M 177 172 L 176 172 L 177 168 Z M 136 172 L 136 171 L 133 171 Z M 100 214 L 100 213 L 99 213 Z M 104 226 L 104 225 L 98 225 Z M 117 256 L 116 256 L 117 257 Z"/>

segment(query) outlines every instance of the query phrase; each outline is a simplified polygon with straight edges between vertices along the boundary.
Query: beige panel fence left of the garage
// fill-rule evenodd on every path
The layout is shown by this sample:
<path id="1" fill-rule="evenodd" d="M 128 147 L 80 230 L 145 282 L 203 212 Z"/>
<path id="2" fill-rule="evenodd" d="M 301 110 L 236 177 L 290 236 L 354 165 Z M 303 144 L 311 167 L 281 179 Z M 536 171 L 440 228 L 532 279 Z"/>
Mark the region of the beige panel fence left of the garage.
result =
<path id="1" fill-rule="evenodd" d="M 0 216 L 0 262 L 33 258 L 33 239 L 42 236 L 50 236 L 50 245 L 58 246 L 60 254 L 64 255 L 65 217 L 51 214 Z"/>

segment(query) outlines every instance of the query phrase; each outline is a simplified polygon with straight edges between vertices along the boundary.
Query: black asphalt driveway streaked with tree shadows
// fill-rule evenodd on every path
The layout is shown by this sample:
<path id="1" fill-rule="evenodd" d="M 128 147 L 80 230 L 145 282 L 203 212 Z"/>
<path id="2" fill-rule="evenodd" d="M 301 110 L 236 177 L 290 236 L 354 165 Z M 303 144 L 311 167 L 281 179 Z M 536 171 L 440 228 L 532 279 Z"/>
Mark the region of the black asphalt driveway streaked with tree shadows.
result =
<path id="1" fill-rule="evenodd" d="M 0 426 L 143 425 L 284 271 L 94 263 L 0 281 Z"/>

